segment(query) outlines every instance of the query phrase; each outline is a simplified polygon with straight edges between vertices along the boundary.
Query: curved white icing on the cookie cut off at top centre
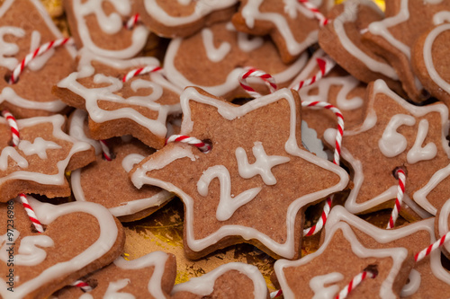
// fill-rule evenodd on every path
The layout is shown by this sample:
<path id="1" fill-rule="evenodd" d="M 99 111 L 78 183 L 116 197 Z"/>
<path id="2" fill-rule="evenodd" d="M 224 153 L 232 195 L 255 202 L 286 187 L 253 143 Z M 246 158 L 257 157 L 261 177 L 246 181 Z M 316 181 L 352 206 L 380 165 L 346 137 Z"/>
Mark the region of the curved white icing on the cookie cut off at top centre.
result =
<path id="1" fill-rule="evenodd" d="M 184 4 L 188 0 L 182 0 Z M 173 16 L 157 4 L 157 0 L 144 0 L 146 13 L 167 27 L 183 26 L 202 19 L 209 13 L 237 4 L 238 0 L 198 0 L 193 13 L 185 16 Z"/>

